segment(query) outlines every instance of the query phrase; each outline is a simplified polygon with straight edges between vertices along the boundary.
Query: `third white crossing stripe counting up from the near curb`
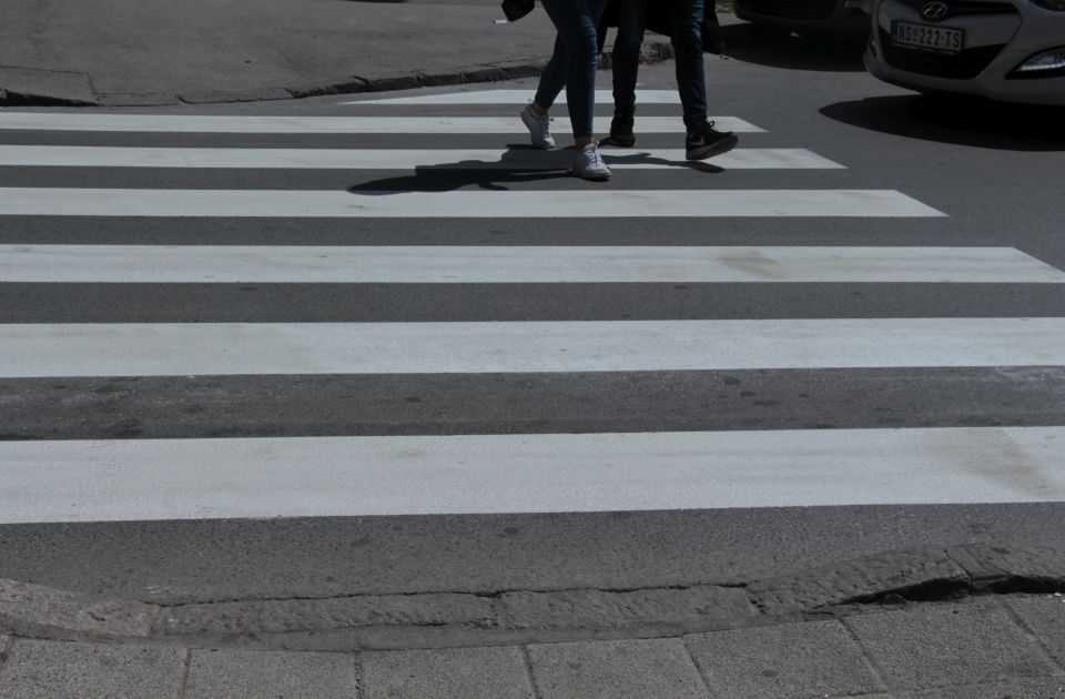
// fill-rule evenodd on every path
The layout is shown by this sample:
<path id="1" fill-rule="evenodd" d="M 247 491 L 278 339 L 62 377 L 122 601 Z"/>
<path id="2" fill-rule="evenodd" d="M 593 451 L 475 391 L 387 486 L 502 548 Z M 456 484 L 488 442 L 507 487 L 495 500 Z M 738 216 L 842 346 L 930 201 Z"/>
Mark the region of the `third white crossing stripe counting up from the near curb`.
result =
<path id="1" fill-rule="evenodd" d="M 0 282 L 1065 283 L 1012 247 L 0 245 Z"/>

